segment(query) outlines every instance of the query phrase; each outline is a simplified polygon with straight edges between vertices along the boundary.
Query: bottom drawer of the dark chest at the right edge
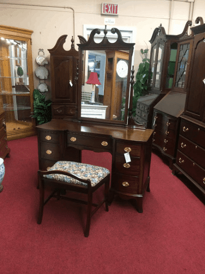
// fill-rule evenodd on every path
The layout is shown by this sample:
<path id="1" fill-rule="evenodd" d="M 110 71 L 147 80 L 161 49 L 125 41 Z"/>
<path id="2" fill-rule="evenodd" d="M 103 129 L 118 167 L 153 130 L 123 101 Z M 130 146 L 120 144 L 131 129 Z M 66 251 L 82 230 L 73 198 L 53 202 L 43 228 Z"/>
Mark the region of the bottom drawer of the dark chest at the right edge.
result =
<path id="1" fill-rule="evenodd" d="M 177 151 L 176 164 L 198 185 L 205 189 L 205 169 L 203 169 L 180 151 Z"/>

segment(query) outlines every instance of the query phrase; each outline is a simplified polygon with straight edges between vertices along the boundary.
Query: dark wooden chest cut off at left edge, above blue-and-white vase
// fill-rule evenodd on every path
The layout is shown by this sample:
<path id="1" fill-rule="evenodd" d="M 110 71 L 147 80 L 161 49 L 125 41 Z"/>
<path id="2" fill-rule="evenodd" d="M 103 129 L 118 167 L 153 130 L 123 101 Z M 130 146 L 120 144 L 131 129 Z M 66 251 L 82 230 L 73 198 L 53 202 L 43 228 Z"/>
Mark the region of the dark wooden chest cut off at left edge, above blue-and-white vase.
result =
<path id="1" fill-rule="evenodd" d="M 7 144 L 4 113 L 0 114 L 0 158 L 5 158 L 10 152 Z"/>

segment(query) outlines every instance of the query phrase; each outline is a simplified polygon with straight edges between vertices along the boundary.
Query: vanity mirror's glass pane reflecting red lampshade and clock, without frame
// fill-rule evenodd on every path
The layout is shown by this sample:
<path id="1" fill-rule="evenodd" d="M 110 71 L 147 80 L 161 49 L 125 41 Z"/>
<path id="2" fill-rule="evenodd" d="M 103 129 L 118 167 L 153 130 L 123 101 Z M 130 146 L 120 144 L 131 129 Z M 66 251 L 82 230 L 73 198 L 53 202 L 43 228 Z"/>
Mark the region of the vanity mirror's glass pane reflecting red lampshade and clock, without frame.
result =
<path id="1" fill-rule="evenodd" d="M 129 51 L 84 50 L 81 117 L 124 120 Z"/>

